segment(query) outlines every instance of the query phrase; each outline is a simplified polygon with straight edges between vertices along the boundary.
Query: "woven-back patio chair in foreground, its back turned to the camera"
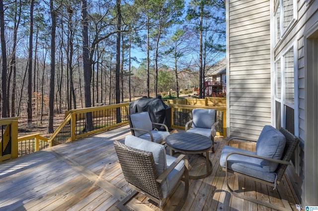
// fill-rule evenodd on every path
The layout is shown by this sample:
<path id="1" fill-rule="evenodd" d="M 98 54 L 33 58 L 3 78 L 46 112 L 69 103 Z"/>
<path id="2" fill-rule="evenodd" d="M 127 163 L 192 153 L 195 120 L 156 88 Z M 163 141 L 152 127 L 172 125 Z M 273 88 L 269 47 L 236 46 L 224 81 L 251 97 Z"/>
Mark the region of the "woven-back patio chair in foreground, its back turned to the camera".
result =
<path id="1" fill-rule="evenodd" d="M 159 204 L 160 210 L 166 200 L 184 181 L 183 197 L 174 210 L 181 210 L 189 190 L 188 160 L 185 155 L 174 158 L 166 155 L 163 145 L 128 135 L 125 144 L 114 142 L 114 147 L 124 177 L 134 191 L 117 205 L 128 210 L 126 204 L 142 193 Z"/>

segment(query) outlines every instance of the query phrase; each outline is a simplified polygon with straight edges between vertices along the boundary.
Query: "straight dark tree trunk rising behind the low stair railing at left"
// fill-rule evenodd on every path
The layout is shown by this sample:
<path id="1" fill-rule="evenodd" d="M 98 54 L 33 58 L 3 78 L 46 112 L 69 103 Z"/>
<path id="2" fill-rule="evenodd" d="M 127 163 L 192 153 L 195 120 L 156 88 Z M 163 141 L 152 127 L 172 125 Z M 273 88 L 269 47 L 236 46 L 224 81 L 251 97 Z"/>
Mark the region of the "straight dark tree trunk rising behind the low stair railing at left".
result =
<path id="1" fill-rule="evenodd" d="M 28 126 L 32 126 L 32 53 L 33 53 L 33 8 L 34 0 L 31 0 L 30 6 L 30 37 L 29 37 L 29 57 L 28 57 Z"/>

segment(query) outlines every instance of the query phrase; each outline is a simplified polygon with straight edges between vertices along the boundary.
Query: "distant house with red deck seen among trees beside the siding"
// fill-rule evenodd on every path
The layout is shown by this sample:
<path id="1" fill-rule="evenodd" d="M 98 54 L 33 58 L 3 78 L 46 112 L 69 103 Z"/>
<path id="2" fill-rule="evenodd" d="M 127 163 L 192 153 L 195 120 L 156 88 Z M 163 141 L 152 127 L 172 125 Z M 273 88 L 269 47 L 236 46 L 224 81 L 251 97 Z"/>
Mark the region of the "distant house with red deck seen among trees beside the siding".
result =
<path id="1" fill-rule="evenodd" d="M 226 93 L 226 83 L 226 58 L 224 57 L 219 62 L 209 67 L 208 71 L 205 73 L 205 96 Z"/>

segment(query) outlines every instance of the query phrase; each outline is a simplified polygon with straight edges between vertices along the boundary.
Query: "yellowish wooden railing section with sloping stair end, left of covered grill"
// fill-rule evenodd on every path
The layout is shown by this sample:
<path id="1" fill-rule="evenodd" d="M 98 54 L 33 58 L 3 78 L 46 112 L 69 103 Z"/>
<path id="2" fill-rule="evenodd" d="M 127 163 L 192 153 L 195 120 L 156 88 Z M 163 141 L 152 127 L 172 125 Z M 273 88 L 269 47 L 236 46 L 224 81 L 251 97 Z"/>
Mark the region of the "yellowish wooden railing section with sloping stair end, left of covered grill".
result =
<path id="1" fill-rule="evenodd" d="M 51 146 L 128 124 L 129 103 L 75 109 L 67 114 L 51 136 Z"/>

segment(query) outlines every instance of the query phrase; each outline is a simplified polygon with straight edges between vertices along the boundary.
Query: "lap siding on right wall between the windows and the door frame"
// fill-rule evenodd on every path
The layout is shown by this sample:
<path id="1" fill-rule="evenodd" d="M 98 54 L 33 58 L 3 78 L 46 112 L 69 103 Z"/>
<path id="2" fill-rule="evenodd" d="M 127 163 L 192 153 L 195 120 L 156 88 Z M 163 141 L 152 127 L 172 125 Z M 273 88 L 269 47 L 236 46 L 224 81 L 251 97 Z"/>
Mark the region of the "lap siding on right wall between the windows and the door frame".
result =
<path id="1" fill-rule="evenodd" d="M 305 129 L 305 37 L 306 32 L 311 29 L 318 21 L 318 3 L 317 0 L 310 5 L 306 5 L 306 0 L 298 0 L 297 2 L 297 21 L 281 40 L 279 45 L 275 47 L 275 58 L 280 56 L 290 46 L 297 45 L 297 70 L 298 70 L 298 134 L 295 134 L 300 139 L 300 145 L 297 149 L 298 165 L 296 173 L 289 169 L 288 174 L 294 186 L 294 190 L 302 203 L 305 199 L 305 144 L 306 144 L 306 129 Z M 313 163 L 317 165 L 317 163 Z M 310 179 L 310 178 L 309 178 Z M 317 185 L 317 183 L 316 183 Z M 304 205 L 304 204 L 303 204 Z"/>

